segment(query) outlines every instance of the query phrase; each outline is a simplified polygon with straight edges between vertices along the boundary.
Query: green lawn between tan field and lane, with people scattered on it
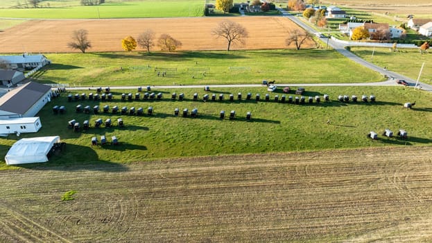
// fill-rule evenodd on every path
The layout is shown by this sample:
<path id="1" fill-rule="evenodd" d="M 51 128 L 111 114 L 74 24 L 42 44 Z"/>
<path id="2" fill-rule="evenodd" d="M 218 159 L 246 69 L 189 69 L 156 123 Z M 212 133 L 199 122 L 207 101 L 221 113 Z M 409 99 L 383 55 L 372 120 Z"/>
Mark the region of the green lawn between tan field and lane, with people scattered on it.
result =
<path id="1" fill-rule="evenodd" d="M 332 50 L 119 52 L 47 54 L 44 83 L 172 85 L 215 83 L 349 83 L 381 81 L 379 74 Z M 157 76 L 157 69 L 166 69 Z M 176 69 L 176 70 L 174 70 Z M 41 76 L 40 76 L 41 75 Z"/>

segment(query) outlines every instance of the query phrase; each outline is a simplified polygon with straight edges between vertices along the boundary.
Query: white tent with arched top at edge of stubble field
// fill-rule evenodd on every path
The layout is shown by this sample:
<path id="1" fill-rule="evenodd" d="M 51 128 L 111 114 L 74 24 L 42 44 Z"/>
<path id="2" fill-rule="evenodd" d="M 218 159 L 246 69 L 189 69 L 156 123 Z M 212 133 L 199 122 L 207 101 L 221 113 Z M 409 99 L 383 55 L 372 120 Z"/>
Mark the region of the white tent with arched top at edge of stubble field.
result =
<path id="1" fill-rule="evenodd" d="M 10 147 L 5 156 L 7 165 L 46 162 L 51 147 L 60 142 L 59 136 L 23 138 Z"/>

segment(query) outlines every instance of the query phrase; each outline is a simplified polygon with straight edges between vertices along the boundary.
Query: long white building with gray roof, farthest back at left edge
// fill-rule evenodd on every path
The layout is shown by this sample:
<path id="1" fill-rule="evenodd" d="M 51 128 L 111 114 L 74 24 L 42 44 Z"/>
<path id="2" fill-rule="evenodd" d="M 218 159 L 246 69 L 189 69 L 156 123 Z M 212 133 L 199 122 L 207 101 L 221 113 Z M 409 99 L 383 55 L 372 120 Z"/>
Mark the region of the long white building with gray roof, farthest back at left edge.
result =
<path id="1" fill-rule="evenodd" d="M 17 55 L 17 56 L 0 56 L 0 62 L 6 63 L 8 69 L 33 69 L 35 67 L 44 67 L 51 63 L 44 55 Z"/>

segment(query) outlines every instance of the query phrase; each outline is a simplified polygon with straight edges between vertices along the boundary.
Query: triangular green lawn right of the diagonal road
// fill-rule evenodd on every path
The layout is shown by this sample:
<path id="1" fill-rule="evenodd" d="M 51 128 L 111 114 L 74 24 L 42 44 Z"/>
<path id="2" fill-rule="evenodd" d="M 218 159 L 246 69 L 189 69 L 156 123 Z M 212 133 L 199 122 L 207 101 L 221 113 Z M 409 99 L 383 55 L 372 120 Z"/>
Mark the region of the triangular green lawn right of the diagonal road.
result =
<path id="1" fill-rule="evenodd" d="M 417 80 L 417 77 L 425 63 L 420 81 L 432 84 L 432 54 L 420 54 L 419 49 L 399 49 L 397 52 L 392 52 L 388 48 L 367 48 L 367 47 L 351 47 L 351 51 L 357 56 L 373 62 L 375 65 L 387 67 L 388 70 L 403 74 Z M 374 56 L 372 57 L 372 52 Z"/>

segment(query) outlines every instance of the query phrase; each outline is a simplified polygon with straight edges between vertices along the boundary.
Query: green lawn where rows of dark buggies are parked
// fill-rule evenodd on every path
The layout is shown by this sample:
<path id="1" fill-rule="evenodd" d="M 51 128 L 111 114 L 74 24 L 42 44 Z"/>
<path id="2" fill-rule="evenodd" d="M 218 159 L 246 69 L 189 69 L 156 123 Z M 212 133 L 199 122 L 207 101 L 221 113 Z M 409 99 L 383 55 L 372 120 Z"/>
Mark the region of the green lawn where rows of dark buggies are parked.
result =
<path id="1" fill-rule="evenodd" d="M 295 88 L 295 87 L 293 87 Z M 282 97 L 282 89 L 277 94 Z M 84 90 L 72 92 L 95 92 Z M 16 140 L 22 137 L 34 137 L 45 135 L 60 135 L 62 141 L 67 143 L 67 150 L 62 156 L 52 158 L 50 165 L 67 163 L 85 163 L 94 161 L 107 162 L 132 162 L 152 160 L 156 158 L 175 158 L 183 156 L 205 156 L 230 153 L 266 153 L 273 151 L 309 151 L 321 149 L 361 148 L 369 146 L 389 145 L 426 145 L 432 140 L 430 124 L 430 94 L 406 88 L 395 87 L 307 87 L 306 99 L 309 96 L 329 94 L 331 102 L 319 104 L 295 105 L 288 103 L 276 103 L 275 101 L 245 101 L 247 92 L 261 94 L 261 98 L 267 92 L 266 87 L 211 89 L 208 93 L 225 94 L 225 101 L 202 102 L 205 92 L 201 89 L 175 89 L 154 90 L 162 92 L 164 98 L 161 101 L 121 101 L 122 92 L 137 90 L 113 90 L 114 101 L 79 101 L 68 102 L 67 94 L 53 99 L 46 105 L 38 116 L 41 117 L 42 128 L 37 134 L 21 134 L 21 137 L 9 135 L 0 139 L 0 154 L 6 155 L 8 148 Z M 184 101 L 172 101 L 171 93 L 184 92 Z M 194 92 L 198 92 L 199 100 L 193 101 Z M 243 100 L 237 101 L 237 92 L 243 93 Z M 229 101 L 230 94 L 235 95 L 234 102 Z M 361 97 L 362 94 L 374 94 L 376 103 L 340 103 L 336 101 L 339 94 L 352 94 Z M 273 100 L 274 93 L 270 94 Z M 293 95 L 294 94 L 289 94 Z M 142 93 L 141 93 L 142 97 Z M 402 104 L 408 101 L 417 101 L 415 109 L 406 110 Z M 307 101 L 306 101 L 307 102 Z M 154 115 L 142 117 L 130 115 L 112 115 L 100 113 L 98 115 L 77 114 L 75 107 L 78 103 L 84 106 L 109 105 L 127 106 L 131 108 L 153 106 Z M 66 106 L 67 113 L 53 115 L 51 108 L 55 105 Z M 184 118 L 173 116 L 175 108 L 198 108 L 198 118 Z M 227 115 L 231 110 L 236 110 L 237 117 L 234 121 L 219 119 L 219 112 L 225 110 Z M 246 112 L 252 112 L 252 121 L 245 121 Z M 114 125 L 116 119 L 121 117 L 125 128 L 90 128 L 89 131 L 74 133 L 67 128 L 67 121 L 76 119 L 81 124 L 89 119 L 94 126 L 98 118 L 111 118 Z M 327 120 L 331 124 L 327 124 Z M 399 128 L 408 131 L 408 140 L 397 138 L 387 139 L 381 136 L 385 128 L 390 128 L 395 133 Z M 380 139 L 371 141 L 366 137 L 370 131 L 379 133 Z M 112 135 L 119 138 L 121 144 L 112 146 L 91 146 L 93 136 L 106 135 L 108 140 Z M 3 160 L 3 156 L 1 157 Z M 305 158 L 307 160 L 308 158 Z M 39 166 L 39 165 L 35 165 Z M 1 164 L 3 169 L 6 168 Z"/>

